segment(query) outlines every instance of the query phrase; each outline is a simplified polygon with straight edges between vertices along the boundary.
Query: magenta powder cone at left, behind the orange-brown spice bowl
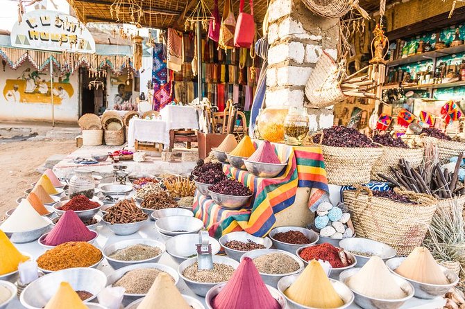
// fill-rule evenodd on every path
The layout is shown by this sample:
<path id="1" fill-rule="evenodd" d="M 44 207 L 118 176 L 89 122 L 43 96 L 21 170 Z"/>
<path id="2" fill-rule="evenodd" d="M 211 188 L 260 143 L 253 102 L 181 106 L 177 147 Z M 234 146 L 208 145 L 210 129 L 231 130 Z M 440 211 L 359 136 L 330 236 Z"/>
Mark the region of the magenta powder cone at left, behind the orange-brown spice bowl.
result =
<path id="1" fill-rule="evenodd" d="M 89 241 L 95 236 L 96 233 L 90 231 L 74 211 L 66 211 L 42 243 L 58 246 L 70 241 Z"/>

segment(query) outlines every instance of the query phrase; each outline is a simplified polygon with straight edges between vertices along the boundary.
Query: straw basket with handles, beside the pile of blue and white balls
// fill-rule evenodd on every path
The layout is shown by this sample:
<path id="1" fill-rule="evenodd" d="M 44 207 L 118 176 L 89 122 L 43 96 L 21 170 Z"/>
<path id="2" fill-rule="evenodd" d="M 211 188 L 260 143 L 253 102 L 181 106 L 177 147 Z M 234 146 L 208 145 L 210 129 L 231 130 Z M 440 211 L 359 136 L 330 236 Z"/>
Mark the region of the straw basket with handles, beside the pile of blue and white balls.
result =
<path id="1" fill-rule="evenodd" d="M 418 204 L 375 197 L 369 188 L 360 186 L 343 192 L 344 203 L 352 214 L 357 236 L 383 242 L 394 247 L 399 256 L 407 256 L 423 242 L 437 200 L 431 195 L 395 191 Z"/>

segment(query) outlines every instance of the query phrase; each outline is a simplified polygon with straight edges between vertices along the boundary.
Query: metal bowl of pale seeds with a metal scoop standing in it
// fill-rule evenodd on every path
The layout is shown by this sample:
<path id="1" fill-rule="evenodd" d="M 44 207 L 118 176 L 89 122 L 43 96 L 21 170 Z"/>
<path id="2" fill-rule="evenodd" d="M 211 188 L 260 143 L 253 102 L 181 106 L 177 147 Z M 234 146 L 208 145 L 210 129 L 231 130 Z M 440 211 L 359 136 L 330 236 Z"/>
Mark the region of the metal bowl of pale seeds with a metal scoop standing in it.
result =
<path id="1" fill-rule="evenodd" d="M 214 285 L 226 283 L 239 267 L 239 262 L 227 256 L 212 256 L 212 258 L 212 270 L 198 270 L 196 257 L 189 258 L 178 266 L 180 278 L 192 292 L 201 297 L 205 297 Z"/>

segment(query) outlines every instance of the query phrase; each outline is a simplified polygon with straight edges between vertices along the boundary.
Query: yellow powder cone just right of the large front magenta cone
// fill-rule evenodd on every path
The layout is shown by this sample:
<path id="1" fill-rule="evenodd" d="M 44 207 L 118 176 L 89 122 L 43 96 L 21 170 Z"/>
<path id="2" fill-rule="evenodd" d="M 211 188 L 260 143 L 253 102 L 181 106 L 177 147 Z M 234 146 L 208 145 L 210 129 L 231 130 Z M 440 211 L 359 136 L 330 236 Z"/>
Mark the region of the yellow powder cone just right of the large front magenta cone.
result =
<path id="1" fill-rule="evenodd" d="M 298 279 L 284 294 L 292 301 L 314 308 L 337 308 L 344 305 L 318 261 L 308 263 Z"/>

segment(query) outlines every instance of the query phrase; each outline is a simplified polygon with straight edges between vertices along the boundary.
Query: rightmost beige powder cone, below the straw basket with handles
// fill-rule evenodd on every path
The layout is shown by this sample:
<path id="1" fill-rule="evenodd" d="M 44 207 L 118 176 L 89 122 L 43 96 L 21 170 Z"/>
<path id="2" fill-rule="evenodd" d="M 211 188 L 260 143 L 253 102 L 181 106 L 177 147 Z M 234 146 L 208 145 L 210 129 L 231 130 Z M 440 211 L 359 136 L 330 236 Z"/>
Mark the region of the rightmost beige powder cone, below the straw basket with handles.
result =
<path id="1" fill-rule="evenodd" d="M 425 247 L 416 247 L 397 267 L 395 272 L 400 276 L 418 282 L 429 284 L 449 283 L 439 265 L 434 261 L 430 251 Z"/>

